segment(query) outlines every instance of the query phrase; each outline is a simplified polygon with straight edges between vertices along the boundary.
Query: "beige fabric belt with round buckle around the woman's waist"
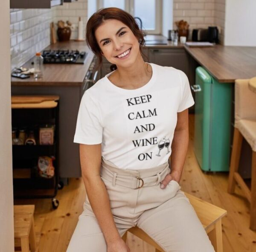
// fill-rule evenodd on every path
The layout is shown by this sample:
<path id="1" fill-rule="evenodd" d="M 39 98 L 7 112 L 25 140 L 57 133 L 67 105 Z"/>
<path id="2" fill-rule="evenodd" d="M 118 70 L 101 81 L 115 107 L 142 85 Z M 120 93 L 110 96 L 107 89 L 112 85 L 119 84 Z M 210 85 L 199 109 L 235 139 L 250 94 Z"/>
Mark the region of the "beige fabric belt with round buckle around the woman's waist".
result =
<path id="1" fill-rule="evenodd" d="M 128 170 L 112 166 L 102 159 L 101 166 L 101 176 L 108 181 L 112 181 L 113 186 L 117 184 L 132 189 L 157 185 L 170 171 L 168 162 L 154 168 Z"/>

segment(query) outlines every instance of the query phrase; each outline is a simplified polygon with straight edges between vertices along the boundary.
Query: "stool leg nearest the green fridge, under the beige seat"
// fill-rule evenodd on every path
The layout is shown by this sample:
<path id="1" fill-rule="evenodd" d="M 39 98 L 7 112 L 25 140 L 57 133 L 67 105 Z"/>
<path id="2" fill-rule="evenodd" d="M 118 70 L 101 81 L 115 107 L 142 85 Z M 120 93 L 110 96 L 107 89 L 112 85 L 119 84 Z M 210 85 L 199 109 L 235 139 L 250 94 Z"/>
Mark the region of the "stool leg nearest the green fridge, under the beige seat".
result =
<path id="1" fill-rule="evenodd" d="M 242 134 L 237 128 L 234 128 L 233 147 L 232 147 L 232 154 L 231 154 L 231 160 L 230 160 L 230 172 L 229 172 L 228 186 L 227 186 L 227 192 L 230 194 L 232 194 L 235 191 L 236 181 L 234 178 L 234 174 L 235 172 L 238 171 L 238 168 L 239 168 L 242 140 L 243 140 Z"/>

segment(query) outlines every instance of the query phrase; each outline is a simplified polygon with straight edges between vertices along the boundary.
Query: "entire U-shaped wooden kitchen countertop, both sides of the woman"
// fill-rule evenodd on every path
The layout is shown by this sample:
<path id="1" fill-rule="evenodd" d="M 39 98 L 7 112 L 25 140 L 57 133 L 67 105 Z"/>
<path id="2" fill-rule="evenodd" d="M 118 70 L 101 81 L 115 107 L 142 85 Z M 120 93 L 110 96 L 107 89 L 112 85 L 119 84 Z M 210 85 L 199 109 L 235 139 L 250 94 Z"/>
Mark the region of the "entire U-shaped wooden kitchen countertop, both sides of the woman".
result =
<path id="1" fill-rule="evenodd" d="M 215 45 L 213 47 L 193 48 L 180 43 L 174 46 L 162 35 L 146 36 L 146 40 L 148 41 L 158 39 L 165 39 L 167 44 L 146 44 L 146 47 L 148 49 L 185 48 L 185 50 L 219 82 L 233 83 L 236 79 L 247 79 L 256 75 L 256 47 Z M 57 42 L 49 45 L 46 49 L 77 49 L 87 52 L 87 56 L 84 64 L 44 64 L 44 76 L 41 80 L 35 80 L 32 76 L 27 79 L 12 77 L 12 85 L 74 86 L 83 83 L 85 74 L 94 57 L 85 41 Z M 27 61 L 22 67 L 31 68 L 31 62 L 32 59 Z"/>

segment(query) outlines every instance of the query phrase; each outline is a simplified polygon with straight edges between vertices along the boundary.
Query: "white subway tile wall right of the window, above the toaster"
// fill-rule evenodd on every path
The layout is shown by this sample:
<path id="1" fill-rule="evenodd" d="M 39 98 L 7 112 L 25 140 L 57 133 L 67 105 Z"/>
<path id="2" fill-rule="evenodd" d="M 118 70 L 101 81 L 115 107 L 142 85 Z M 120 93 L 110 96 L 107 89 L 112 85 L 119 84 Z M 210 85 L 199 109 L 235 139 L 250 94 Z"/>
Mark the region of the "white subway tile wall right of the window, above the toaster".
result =
<path id="1" fill-rule="evenodd" d="M 225 0 L 173 0 L 173 27 L 175 22 L 185 20 L 189 23 L 189 39 L 192 30 L 218 26 L 220 43 L 224 41 Z"/>

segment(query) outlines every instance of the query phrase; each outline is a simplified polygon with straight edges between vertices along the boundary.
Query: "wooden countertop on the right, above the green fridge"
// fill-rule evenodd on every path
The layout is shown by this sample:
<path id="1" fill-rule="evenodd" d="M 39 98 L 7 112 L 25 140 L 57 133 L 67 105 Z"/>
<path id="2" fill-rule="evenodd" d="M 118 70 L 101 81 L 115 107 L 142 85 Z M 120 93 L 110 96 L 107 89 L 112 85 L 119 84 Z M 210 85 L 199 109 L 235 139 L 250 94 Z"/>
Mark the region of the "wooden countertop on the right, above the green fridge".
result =
<path id="1" fill-rule="evenodd" d="M 256 76 L 256 47 L 184 47 L 219 82 L 233 83 L 236 79 L 250 79 Z"/>

